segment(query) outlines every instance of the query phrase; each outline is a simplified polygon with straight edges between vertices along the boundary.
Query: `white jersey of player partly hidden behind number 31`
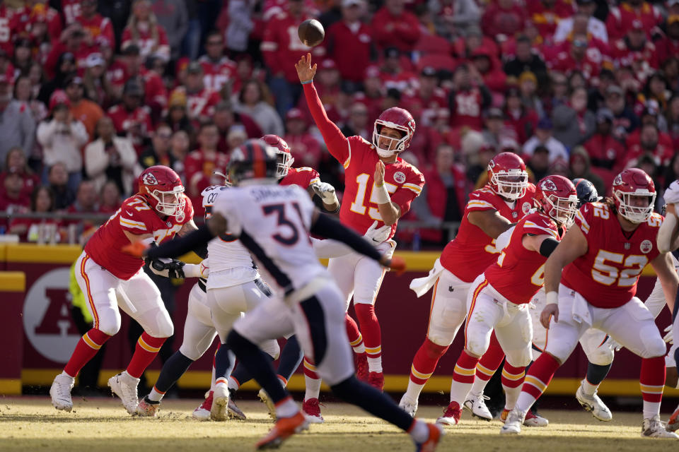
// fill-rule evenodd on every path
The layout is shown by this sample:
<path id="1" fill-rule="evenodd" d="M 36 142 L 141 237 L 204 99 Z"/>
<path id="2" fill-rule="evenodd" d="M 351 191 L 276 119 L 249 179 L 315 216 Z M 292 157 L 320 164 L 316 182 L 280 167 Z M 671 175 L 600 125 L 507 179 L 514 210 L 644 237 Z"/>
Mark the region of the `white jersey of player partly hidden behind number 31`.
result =
<path id="1" fill-rule="evenodd" d="M 202 191 L 206 219 L 212 213 L 215 200 L 226 190 L 226 186 L 212 185 Z M 236 237 L 229 234 L 215 237 L 207 244 L 207 254 L 210 259 L 207 289 L 231 287 L 260 277 L 250 252 Z"/>

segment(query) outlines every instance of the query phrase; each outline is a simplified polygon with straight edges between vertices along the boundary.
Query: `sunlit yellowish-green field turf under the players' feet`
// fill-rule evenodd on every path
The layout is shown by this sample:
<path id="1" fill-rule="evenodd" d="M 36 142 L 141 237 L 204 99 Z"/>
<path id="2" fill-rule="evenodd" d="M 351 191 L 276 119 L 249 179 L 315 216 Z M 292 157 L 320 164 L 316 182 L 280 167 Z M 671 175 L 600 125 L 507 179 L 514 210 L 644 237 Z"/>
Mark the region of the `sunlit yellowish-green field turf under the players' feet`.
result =
<path id="1" fill-rule="evenodd" d="M 117 399 L 74 400 L 74 412 L 57 412 L 48 398 L 0 399 L 0 451 L 251 451 L 271 428 L 265 406 L 243 401 L 247 421 L 197 422 L 191 412 L 199 400 L 168 400 L 157 419 L 127 415 Z M 281 451 L 412 451 L 410 438 L 390 424 L 340 403 L 322 406 L 325 424 L 286 441 Z M 418 415 L 434 420 L 441 408 L 424 406 Z M 499 421 L 472 420 L 446 429 L 439 451 L 669 451 L 671 439 L 639 437 L 641 414 L 614 412 L 598 422 L 580 411 L 544 410 L 544 428 L 524 428 L 520 436 L 500 436 Z M 667 415 L 665 415 L 665 418 Z"/>

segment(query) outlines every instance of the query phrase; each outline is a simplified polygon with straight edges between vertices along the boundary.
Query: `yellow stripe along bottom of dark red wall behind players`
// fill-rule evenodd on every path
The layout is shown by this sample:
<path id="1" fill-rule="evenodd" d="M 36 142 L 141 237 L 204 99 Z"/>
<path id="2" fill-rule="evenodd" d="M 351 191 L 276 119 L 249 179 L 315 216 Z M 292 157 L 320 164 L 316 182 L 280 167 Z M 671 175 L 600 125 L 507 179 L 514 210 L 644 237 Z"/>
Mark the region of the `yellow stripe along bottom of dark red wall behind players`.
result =
<path id="1" fill-rule="evenodd" d="M 59 374 L 61 369 L 23 369 L 21 371 L 21 383 L 25 386 L 50 386 L 54 376 Z M 120 370 L 116 369 L 104 369 L 99 374 L 99 386 L 105 387 L 110 376 L 115 375 Z M 158 379 L 158 374 L 160 371 L 149 370 L 146 371 L 146 377 L 149 379 L 149 384 L 153 383 Z M 209 386 L 210 383 L 210 372 L 209 371 L 187 371 L 184 376 L 179 380 L 179 385 L 182 388 L 187 389 L 204 389 Z M 448 375 L 434 375 L 429 379 L 424 386 L 424 392 L 426 393 L 436 393 L 443 392 L 448 393 L 451 388 L 451 378 Z M 403 392 L 408 386 L 408 376 L 407 375 L 385 375 L 385 391 Z M 1 382 L 1 380 L 0 380 Z M 556 378 L 552 380 L 550 386 L 547 387 L 547 395 L 549 396 L 571 396 L 575 394 L 578 386 L 580 385 L 580 379 L 569 379 L 569 378 Z M 2 386 L 0 386 L 2 388 Z M 249 381 L 243 385 L 243 389 L 257 389 L 257 383 L 255 381 Z M 304 391 L 304 376 L 301 374 L 295 374 L 292 376 L 288 382 L 288 388 L 291 391 Z M 323 383 L 323 391 L 328 391 L 329 388 Z M 0 391 L 1 393 L 2 391 Z M 664 391 L 666 396 L 679 397 L 679 390 L 674 388 L 665 388 Z M 641 391 L 639 390 L 639 380 L 634 379 L 608 379 L 605 380 L 599 390 L 598 394 L 601 396 L 641 396 Z"/>

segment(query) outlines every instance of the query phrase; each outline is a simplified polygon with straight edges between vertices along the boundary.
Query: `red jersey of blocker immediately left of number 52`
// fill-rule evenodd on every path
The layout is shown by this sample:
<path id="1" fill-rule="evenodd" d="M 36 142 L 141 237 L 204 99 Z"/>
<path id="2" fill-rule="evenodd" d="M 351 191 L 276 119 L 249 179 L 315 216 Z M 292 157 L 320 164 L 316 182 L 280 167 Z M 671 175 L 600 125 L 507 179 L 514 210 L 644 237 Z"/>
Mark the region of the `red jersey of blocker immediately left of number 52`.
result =
<path id="1" fill-rule="evenodd" d="M 545 285 L 547 258 L 523 246 L 523 236 L 550 235 L 561 240 L 557 224 L 544 213 L 530 213 L 514 227 L 509 244 L 502 249 L 497 262 L 486 268 L 484 275 L 500 295 L 514 304 L 526 304 Z"/>

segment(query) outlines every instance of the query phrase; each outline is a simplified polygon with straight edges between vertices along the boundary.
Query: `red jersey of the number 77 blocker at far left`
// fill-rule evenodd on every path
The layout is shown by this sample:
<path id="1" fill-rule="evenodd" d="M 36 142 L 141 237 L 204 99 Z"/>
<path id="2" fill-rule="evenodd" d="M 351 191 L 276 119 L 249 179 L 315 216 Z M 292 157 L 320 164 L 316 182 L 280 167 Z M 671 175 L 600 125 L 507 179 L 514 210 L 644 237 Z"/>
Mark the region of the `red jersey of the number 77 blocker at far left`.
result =
<path id="1" fill-rule="evenodd" d="M 173 239 L 182 226 L 193 218 L 191 201 L 186 196 L 184 198 L 186 206 L 181 221 L 173 216 L 161 219 L 156 210 L 139 195 L 127 198 L 88 240 L 86 254 L 116 278 L 129 280 L 141 270 L 144 260 L 120 251 L 122 246 L 129 244 L 124 231 L 135 235 L 153 234 L 157 244 Z"/>

